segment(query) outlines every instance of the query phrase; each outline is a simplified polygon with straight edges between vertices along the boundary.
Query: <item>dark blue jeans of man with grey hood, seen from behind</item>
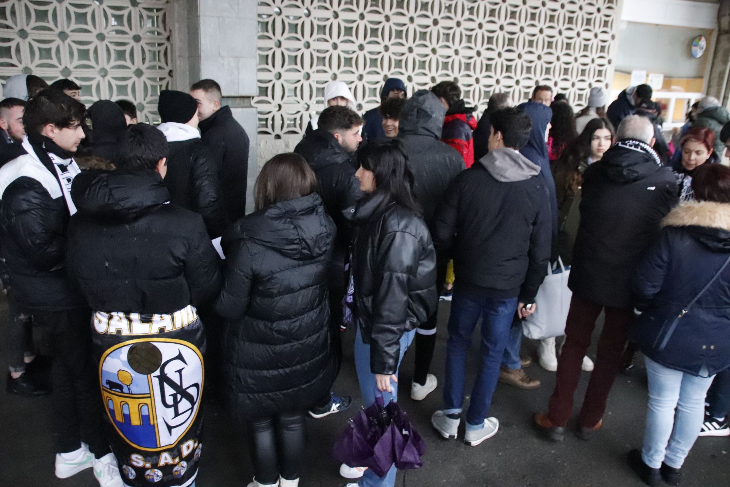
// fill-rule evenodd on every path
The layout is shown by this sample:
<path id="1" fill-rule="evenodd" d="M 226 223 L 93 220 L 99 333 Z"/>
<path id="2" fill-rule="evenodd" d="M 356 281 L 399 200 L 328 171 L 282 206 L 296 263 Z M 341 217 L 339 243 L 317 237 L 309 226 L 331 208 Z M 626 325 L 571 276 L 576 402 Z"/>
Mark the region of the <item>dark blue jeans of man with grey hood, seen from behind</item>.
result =
<path id="1" fill-rule="evenodd" d="M 449 340 L 446 345 L 444 413 L 460 414 L 462 411 L 466 353 L 472 345 L 472 334 L 481 316 L 482 366 L 477 372 L 469 410 L 466 412 L 466 423 L 472 426 L 484 423 L 489 415 L 492 395 L 499 379 L 499 366 L 510 338 L 515 310 L 517 298 L 495 299 L 454 290 L 449 317 Z"/>

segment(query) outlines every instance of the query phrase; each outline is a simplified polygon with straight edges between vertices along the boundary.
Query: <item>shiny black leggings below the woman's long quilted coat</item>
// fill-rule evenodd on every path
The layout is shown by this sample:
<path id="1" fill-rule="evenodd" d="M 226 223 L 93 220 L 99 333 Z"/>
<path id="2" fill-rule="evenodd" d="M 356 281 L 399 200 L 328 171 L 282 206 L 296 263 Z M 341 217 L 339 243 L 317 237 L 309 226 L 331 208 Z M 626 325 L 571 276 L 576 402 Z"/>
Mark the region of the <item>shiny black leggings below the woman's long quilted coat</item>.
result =
<path id="1" fill-rule="evenodd" d="M 280 413 L 248 425 L 251 461 L 258 483 L 299 478 L 304 455 L 304 413 Z"/>

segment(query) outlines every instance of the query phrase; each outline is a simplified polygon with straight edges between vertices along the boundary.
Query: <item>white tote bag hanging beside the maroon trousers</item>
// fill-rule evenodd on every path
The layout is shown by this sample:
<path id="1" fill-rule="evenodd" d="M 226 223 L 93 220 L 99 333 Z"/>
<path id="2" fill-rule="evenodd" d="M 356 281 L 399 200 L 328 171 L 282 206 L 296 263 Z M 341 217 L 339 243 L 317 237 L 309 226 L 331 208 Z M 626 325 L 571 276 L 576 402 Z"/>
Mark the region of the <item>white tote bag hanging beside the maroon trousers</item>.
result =
<path id="1" fill-rule="evenodd" d="M 560 337 L 565 334 L 565 321 L 572 292 L 568 288 L 570 268 L 558 258 L 556 269 L 548 264 L 548 275 L 535 296 L 535 312 L 522 322 L 523 333 L 532 340 Z"/>

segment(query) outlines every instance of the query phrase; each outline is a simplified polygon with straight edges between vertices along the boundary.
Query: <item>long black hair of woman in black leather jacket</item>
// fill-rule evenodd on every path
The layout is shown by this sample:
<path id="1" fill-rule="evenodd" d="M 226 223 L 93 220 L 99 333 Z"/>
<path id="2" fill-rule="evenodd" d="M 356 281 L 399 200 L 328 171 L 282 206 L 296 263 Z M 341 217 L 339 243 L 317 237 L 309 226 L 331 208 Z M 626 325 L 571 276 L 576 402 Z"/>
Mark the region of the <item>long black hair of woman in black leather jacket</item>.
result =
<path id="1" fill-rule="evenodd" d="M 421 215 L 413 195 L 415 180 L 408 166 L 408 156 L 399 139 L 368 144 L 361 150 L 358 161 L 363 169 L 375 177 L 375 191 L 371 197 L 384 195 L 381 207 L 393 202 Z"/>

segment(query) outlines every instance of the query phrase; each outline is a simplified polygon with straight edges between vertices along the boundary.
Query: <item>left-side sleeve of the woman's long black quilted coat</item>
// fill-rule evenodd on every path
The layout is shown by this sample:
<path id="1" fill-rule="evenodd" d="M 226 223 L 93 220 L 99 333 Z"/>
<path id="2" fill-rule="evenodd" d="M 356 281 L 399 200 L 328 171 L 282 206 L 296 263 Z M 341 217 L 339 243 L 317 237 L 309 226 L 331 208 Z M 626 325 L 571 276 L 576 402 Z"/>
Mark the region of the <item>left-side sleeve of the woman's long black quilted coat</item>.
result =
<path id="1" fill-rule="evenodd" d="M 244 240 L 237 240 L 226 248 L 226 276 L 223 288 L 215 302 L 215 311 L 223 318 L 242 318 L 251 302 L 253 268 L 251 256 Z"/>

